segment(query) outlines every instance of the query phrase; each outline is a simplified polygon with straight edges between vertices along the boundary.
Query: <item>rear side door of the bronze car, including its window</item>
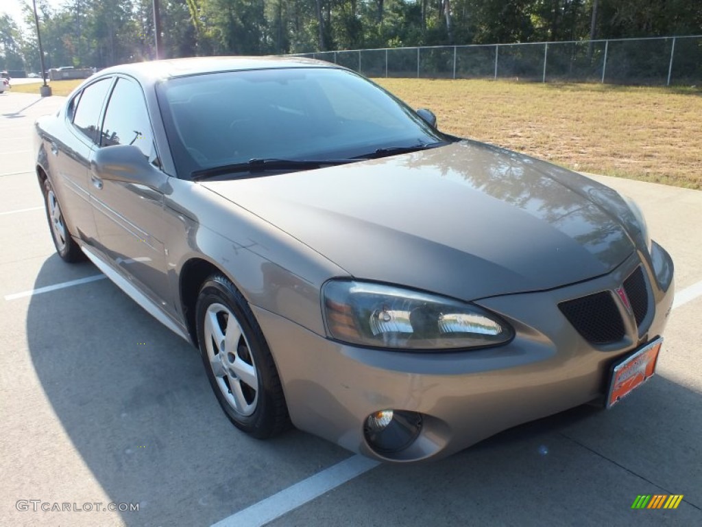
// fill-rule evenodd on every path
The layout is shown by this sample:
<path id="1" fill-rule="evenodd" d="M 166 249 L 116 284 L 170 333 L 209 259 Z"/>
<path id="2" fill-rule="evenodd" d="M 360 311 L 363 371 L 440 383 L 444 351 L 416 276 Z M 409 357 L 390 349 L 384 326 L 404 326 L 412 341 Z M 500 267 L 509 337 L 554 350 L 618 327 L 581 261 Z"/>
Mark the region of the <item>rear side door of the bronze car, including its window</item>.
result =
<path id="1" fill-rule="evenodd" d="M 95 219 L 90 202 L 90 157 L 98 143 L 100 115 L 114 81 L 88 84 L 68 103 L 65 123 L 48 140 L 49 173 L 72 234 L 92 245 Z"/>

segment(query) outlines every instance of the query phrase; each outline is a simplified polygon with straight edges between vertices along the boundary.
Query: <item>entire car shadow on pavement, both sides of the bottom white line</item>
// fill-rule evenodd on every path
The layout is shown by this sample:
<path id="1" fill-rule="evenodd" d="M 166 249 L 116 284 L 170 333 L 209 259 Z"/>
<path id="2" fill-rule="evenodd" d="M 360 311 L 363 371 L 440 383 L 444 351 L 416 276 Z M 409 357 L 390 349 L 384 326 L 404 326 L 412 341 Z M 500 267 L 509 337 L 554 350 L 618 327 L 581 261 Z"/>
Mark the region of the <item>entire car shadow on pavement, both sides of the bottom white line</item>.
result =
<path id="1" fill-rule="evenodd" d="M 256 441 L 234 429 L 197 351 L 107 280 L 32 297 L 27 339 L 102 490 L 140 503 L 121 513 L 128 526 L 208 526 L 350 455 L 299 431 Z M 699 524 L 701 399 L 660 375 L 609 411 L 575 408 L 446 460 L 381 465 L 272 525 Z M 646 493 L 685 500 L 631 518 Z"/>

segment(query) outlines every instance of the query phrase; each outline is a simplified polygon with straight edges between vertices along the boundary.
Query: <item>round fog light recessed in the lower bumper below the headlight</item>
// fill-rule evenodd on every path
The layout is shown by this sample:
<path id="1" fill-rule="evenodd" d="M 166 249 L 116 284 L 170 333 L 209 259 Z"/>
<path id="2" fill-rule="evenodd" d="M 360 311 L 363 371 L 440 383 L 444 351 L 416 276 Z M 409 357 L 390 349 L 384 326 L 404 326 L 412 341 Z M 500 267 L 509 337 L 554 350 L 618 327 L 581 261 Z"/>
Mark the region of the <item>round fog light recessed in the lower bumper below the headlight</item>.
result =
<path id="1" fill-rule="evenodd" d="M 422 416 L 406 410 L 380 410 L 366 417 L 364 436 L 373 450 L 381 454 L 409 447 L 422 429 Z"/>

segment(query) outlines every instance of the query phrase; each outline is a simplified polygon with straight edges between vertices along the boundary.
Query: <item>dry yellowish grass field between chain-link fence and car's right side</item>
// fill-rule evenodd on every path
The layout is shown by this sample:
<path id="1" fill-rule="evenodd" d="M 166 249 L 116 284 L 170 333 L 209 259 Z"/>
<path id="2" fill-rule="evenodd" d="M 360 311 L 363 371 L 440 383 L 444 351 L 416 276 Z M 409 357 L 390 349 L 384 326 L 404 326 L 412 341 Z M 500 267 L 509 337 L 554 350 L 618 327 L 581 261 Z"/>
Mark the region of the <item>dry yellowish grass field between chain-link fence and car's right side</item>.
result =
<path id="1" fill-rule="evenodd" d="M 439 127 L 579 171 L 702 188 L 702 90 L 375 79 Z"/>

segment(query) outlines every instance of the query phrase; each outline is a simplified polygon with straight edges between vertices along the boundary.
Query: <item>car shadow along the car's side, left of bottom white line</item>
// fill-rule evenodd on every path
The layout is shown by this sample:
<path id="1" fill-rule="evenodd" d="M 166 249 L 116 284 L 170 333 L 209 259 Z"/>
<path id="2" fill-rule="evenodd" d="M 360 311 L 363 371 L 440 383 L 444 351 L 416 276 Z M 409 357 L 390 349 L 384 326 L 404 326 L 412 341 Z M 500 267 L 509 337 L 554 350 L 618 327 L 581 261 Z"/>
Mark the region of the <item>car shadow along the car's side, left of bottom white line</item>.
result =
<path id="1" fill-rule="evenodd" d="M 32 297 L 27 341 L 48 402 L 102 490 L 140 503 L 121 513 L 128 526 L 211 525 L 350 455 L 295 430 L 257 441 L 235 429 L 197 350 L 109 280 Z M 66 477 L 56 486 L 72 488 Z"/>

